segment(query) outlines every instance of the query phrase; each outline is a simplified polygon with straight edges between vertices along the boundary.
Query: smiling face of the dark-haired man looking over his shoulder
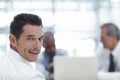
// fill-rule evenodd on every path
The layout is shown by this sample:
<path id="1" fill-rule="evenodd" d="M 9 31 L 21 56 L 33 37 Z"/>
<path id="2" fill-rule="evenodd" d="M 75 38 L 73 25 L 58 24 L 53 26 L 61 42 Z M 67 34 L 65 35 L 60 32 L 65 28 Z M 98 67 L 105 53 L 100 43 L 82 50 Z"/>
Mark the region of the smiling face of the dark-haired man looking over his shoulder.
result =
<path id="1" fill-rule="evenodd" d="M 36 61 L 42 46 L 43 31 L 41 27 L 27 24 L 23 27 L 18 40 L 11 41 L 16 51 L 28 61 Z"/>

